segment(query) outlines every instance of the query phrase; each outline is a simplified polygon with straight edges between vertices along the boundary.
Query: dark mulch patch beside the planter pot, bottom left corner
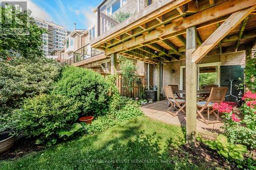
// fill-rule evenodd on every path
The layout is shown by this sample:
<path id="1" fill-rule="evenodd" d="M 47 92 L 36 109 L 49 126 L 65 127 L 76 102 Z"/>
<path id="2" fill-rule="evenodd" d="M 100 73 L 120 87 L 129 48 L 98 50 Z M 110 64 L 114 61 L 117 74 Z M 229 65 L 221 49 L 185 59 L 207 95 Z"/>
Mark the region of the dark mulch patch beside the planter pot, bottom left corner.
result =
<path id="1" fill-rule="evenodd" d="M 12 149 L 8 153 L 0 155 L 0 160 L 20 158 L 31 152 L 41 151 L 43 148 L 44 147 L 35 144 L 35 139 L 20 139 L 14 143 Z"/>

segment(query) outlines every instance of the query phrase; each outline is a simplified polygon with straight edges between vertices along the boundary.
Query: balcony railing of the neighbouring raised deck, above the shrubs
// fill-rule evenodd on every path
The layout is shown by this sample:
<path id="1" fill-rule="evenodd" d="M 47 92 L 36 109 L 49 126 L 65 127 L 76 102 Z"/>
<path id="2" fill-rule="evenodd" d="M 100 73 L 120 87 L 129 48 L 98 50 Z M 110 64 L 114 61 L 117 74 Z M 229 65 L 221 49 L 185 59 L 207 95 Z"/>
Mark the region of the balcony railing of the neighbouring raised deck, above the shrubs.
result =
<path id="1" fill-rule="evenodd" d="M 91 48 L 90 44 L 84 45 L 83 47 L 79 48 L 77 51 L 73 53 L 73 57 L 70 59 L 62 62 L 62 65 L 73 65 L 79 61 L 96 57 L 97 55 L 102 54 L 103 51 L 98 50 L 96 48 Z"/>

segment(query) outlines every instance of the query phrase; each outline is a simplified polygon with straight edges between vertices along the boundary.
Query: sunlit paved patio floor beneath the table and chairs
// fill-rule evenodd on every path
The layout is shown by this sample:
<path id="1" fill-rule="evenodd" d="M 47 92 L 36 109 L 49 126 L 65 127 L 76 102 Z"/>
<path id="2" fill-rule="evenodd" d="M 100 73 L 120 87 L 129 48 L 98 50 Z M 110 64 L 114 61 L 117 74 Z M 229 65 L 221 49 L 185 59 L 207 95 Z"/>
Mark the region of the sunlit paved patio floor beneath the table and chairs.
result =
<path id="1" fill-rule="evenodd" d="M 173 115 L 166 112 L 167 109 L 167 100 L 147 104 L 141 107 L 141 110 L 147 117 L 163 123 L 186 127 L 186 116 L 183 113 L 179 113 L 177 116 L 174 117 Z M 214 118 L 215 117 L 213 116 L 210 117 L 210 119 Z M 217 136 L 217 133 L 223 131 L 223 129 L 220 129 L 221 126 L 223 126 L 223 123 L 206 125 L 205 123 L 201 122 L 199 118 L 197 120 L 197 131 L 206 135 Z"/>

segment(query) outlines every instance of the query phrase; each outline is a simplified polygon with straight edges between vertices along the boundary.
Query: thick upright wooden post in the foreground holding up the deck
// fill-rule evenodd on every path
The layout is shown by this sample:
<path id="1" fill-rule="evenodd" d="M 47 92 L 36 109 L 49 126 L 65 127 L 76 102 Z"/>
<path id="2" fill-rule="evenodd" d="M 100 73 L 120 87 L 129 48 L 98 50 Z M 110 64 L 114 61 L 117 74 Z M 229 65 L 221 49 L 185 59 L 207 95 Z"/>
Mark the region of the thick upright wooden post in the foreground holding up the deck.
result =
<path id="1" fill-rule="evenodd" d="M 186 29 L 186 142 L 196 146 L 197 138 L 197 65 L 192 54 L 197 47 L 196 27 Z"/>

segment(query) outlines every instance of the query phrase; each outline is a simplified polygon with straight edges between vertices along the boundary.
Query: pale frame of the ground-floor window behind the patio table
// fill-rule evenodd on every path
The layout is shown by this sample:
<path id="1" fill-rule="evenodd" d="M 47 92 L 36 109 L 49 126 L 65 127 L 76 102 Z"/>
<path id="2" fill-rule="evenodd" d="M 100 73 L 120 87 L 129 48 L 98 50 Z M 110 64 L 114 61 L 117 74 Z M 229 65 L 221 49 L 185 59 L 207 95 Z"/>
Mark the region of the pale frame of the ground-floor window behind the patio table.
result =
<path id="1" fill-rule="evenodd" d="M 199 89 L 199 68 L 200 67 L 209 67 L 209 66 L 217 66 L 217 85 L 220 87 L 221 84 L 221 62 L 214 63 L 205 63 L 205 64 L 197 64 L 197 89 Z M 183 90 L 183 68 L 186 68 L 185 65 L 180 66 L 180 89 Z"/>

